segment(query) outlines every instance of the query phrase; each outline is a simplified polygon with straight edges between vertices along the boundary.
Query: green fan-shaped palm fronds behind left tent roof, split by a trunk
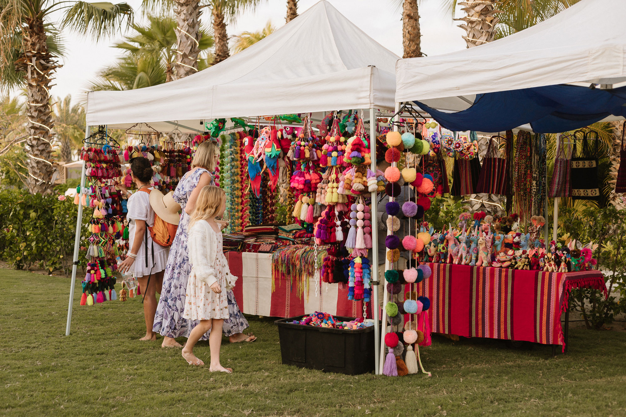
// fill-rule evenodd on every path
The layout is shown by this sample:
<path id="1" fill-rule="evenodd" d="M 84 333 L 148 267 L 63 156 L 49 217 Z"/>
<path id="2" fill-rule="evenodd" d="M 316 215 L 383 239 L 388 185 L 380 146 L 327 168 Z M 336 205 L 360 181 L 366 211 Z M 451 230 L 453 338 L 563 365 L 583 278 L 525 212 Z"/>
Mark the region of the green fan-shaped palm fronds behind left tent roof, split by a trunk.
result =
<path id="1" fill-rule="evenodd" d="M 170 16 L 152 16 L 148 14 L 148 25 L 133 24 L 134 34 L 115 44 L 115 48 L 124 49 L 131 55 L 152 54 L 160 57 L 165 66 L 165 82 L 172 81 L 177 64 L 177 23 Z M 202 28 L 199 31 L 198 48 L 200 53 L 213 48 L 213 36 Z M 197 56 L 198 58 L 198 56 Z M 200 59 L 197 68 L 206 66 L 206 56 Z M 198 62 L 198 60 L 197 60 Z M 153 85 L 153 83 L 150 83 Z"/>

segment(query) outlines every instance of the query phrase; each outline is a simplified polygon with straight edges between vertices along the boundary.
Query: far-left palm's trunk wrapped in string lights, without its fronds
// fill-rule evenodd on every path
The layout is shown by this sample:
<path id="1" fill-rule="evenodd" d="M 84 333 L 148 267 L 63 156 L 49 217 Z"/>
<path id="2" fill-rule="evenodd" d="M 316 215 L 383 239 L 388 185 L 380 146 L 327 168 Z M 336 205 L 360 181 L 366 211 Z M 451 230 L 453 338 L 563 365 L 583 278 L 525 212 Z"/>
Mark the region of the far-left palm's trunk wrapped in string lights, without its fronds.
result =
<path id="1" fill-rule="evenodd" d="M 54 61 L 46 44 L 46 31 L 41 18 L 27 21 L 23 29 L 23 51 L 16 69 L 26 73 L 26 115 L 28 139 L 26 152 L 28 177 L 24 180 L 30 193 L 47 194 L 53 187 L 52 142 L 54 119 L 50 106 L 52 74 L 60 65 Z"/>

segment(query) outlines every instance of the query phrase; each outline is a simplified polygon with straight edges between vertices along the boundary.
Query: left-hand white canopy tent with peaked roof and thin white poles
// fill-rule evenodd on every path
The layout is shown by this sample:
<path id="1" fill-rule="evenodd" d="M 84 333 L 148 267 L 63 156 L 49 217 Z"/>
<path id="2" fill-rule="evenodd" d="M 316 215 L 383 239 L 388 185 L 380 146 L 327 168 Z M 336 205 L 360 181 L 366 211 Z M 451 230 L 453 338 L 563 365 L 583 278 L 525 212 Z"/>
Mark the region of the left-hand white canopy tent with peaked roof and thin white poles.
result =
<path id="1" fill-rule="evenodd" d="M 346 19 L 327 1 L 285 24 L 267 38 L 207 70 L 171 83 L 128 91 L 88 93 L 86 135 L 91 126 L 130 128 L 150 123 L 158 131 L 203 131 L 215 118 L 369 109 L 376 137 L 376 109 L 393 110 L 399 57 Z M 133 130 L 148 126 L 139 125 Z M 376 153 L 376 141 L 372 140 Z M 376 158 L 372 158 L 372 170 Z M 85 164 L 81 188 L 85 187 Z M 372 194 L 376 201 L 376 193 Z M 78 206 L 74 266 L 66 335 L 73 306 L 80 225 Z M 372 205 L 372 275 L 377 277 L 376 204 Z M 377 286 L 372 301 L 378 321 Z M 379 326 L 375 327 L 379 336 Z M 376 369 L 378 345 L 376 344 Z"/>

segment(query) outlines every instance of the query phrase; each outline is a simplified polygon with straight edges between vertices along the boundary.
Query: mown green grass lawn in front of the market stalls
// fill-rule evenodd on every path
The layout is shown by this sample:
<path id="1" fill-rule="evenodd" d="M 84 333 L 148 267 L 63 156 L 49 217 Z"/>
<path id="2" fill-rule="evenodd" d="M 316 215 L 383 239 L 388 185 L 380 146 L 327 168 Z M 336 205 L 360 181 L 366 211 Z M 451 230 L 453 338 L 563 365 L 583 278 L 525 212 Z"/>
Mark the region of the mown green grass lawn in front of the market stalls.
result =
<path id="1" fill-rule="evenodd" d="M 77 284 L 80 288 L 80 283 Z M 0 269 L 0 413 L 4 415 L 316 416 L 626 415 L 626 333 L 570 332 L 550 346 L 434 337 L 422 350 L 432 378 L 346 376 L 285 366 L 270 319 L 259 340 L 222 344 L 235 373 L 189 366 L 180 351 L 140 342 L 140 298 L 81 307 L 65 336 L 69 280 Z M 183 341 L 181 339 L 180 341 Z M 200 342 L 197 356 L 208 363 Z"/>

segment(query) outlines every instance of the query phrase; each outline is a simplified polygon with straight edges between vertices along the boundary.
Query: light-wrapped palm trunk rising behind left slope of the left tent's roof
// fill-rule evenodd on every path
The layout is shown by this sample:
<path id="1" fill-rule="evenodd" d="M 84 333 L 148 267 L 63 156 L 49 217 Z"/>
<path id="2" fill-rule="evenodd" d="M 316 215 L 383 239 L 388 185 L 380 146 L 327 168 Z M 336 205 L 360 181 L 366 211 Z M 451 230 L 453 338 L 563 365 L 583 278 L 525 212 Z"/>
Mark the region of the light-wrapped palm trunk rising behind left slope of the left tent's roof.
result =
<path id="1" fill-rule="evenodd" d="M 174 13 L 176 14 L 177 59 L 172 75 L 167 74 L 166 83 L 198 71 L 198 40 L 200 38 L 200 8 L 199 0 L 175 0 Z"/>

